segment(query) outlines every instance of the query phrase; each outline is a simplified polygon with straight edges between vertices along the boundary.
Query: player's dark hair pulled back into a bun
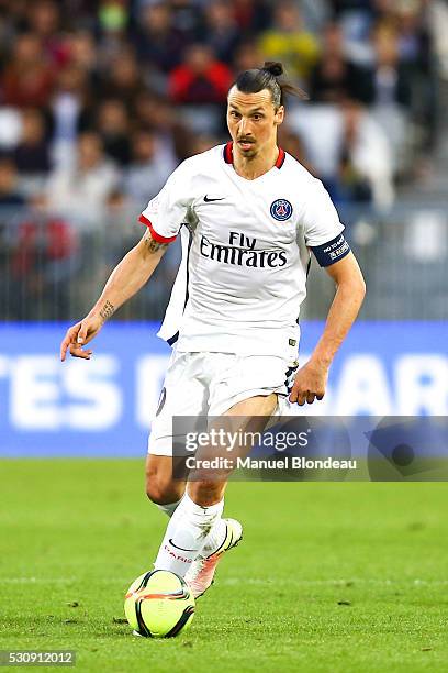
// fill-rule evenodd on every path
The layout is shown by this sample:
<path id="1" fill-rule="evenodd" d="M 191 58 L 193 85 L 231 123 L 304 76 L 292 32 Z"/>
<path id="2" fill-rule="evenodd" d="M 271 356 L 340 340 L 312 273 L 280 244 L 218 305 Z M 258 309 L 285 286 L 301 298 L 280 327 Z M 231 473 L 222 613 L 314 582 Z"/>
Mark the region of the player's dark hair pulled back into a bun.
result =
<path id="1" fill-rule="evenodd" d="M 307 100 L 309 96 L 288 81 L 279 80 L 283 75 L 283 65 L 278 60 L 266 60 L 261 68 L 251 68 L 238 75 L 235 85 L 243 93 L 258 93 L 268 89 L 272 96 L 273 107 L 277 109 L 284 104 L 284 95 L 295 96 Z"/>

